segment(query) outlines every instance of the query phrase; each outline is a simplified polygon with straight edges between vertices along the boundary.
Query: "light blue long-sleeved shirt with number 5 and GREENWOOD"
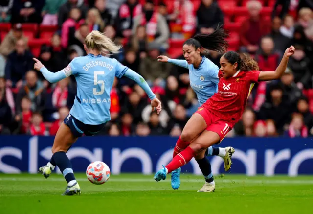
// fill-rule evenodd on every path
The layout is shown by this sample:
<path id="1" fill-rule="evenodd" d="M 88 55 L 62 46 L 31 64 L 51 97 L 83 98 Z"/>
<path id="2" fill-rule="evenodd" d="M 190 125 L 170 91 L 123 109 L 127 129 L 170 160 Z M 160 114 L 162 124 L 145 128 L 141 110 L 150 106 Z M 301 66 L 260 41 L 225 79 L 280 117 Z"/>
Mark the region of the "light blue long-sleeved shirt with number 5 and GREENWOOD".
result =
<path id="1" fill-rule="evenodd" d="M 88 54 L 74 58 L 67 68 L 56 73 L 48 71 L 45 67 L 40 71 L 49 82 L 58 82 L 70 75 L 75 76 L 77 95 L 70 115 L 87 125 L 99 125 L 111 120 L 110 91 L 115 76 L 133 79 L 150 99 L 156 97 L 138 73 L 123 66 L 116 59 L 102 55 Z"/>

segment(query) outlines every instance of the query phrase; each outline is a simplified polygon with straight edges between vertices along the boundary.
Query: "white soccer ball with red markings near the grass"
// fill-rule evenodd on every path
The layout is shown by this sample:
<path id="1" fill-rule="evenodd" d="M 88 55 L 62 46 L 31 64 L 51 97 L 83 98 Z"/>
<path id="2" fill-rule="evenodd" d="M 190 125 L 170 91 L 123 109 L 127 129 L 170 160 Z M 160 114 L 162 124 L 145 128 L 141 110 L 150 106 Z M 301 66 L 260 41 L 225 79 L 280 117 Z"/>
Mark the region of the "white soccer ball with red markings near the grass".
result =
<path id="1" fill-rule="evenodd" d="M 86 170 L 88 180 L 92 184 L 104 184 L 110 178 L 110 168 L 101 161 L 95 161 L 89 164 Z"/>

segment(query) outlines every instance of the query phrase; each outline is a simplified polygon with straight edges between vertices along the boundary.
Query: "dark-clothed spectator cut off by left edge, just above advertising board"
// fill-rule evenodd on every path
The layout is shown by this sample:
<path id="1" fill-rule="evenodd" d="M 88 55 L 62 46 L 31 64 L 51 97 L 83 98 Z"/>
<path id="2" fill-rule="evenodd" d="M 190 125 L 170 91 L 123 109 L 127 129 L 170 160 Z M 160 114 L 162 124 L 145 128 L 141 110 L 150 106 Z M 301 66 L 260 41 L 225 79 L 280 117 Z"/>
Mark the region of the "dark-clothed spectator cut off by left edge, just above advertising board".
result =
<path id="1" fill-rule="evenodd" d="M 5 85 L 0 83 L 0 134 L 10 134 L 12 111 L 5 98 Z"/>

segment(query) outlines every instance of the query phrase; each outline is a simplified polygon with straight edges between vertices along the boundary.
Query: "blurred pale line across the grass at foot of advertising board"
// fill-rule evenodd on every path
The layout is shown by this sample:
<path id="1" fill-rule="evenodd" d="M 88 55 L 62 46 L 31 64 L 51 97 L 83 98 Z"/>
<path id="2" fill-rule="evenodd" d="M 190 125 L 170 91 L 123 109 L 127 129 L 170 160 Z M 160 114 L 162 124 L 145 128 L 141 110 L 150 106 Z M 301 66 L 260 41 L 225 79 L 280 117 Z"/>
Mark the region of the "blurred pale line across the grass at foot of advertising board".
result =
<path id="1" fill-rule="evenodd" d="M 77 178 L 77 181 L 88 181 L 87 178 Z M 12 178 L 12 177 L 4 177 L 0 178 L 0 181 L 64 181 L 63 178 L 48 178 L 45 180 L 44 178 Z M 148 178 L 112 178 L 109 180 L 110 182 L 156 182 L 155 180 Z M 170 182 L 171 180 L 165 180 L 162 182 Z M 255 179 L 217 179 L 218 183 L 242 183 L 242 184 L 313 184 L 313 180 L 255 180 Z M 203 183 L 203 179 L 181 179 L 181 182 L 190 182 L 190 183 Z"/>

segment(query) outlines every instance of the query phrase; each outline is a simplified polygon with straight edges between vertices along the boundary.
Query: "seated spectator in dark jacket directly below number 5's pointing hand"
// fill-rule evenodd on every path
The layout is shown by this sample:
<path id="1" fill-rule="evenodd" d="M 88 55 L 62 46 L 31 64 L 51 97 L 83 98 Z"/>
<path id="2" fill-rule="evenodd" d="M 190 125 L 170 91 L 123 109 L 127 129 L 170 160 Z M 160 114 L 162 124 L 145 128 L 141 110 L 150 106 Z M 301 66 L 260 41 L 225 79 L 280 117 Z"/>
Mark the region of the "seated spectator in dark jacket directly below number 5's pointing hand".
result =
<path id="1" fill-rule="evenodd" d="M 26 73 L 26 84 L 20 88 L 16 96 L 17 112 L 22 111 L 21 100 L 22 97 L 29 97 L 31 100 L 30 109 L 32 112 L 42 111 L 45 100 L 45 88 L 41 81 L 38 80 L 36 71 L 30 70 Z"/>

